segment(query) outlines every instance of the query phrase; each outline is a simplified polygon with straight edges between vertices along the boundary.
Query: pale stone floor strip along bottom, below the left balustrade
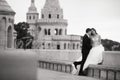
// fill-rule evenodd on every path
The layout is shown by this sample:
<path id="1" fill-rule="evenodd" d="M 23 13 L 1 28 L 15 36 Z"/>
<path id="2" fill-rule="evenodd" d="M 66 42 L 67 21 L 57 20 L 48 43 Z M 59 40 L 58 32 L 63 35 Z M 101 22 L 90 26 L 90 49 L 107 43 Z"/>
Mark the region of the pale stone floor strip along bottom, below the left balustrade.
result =
<path id="1" fill-rule="evenodd" d="M 99 80 L 91 77 L 76 76 L 69 73 L 56 72 L 39 68 L 37 80 Z"/>

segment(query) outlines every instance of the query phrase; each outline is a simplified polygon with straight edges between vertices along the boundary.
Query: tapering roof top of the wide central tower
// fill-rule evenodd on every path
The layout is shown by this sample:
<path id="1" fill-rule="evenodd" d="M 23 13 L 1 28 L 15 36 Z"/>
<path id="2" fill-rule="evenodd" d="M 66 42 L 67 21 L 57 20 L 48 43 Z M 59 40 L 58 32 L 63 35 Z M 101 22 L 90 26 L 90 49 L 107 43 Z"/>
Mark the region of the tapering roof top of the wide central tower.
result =
<path id="1" fill-rule="evenodd" d="M 59 1 L 58 0 L 46 0 L 44 8 L 56 8 L 59 9 Z"/>

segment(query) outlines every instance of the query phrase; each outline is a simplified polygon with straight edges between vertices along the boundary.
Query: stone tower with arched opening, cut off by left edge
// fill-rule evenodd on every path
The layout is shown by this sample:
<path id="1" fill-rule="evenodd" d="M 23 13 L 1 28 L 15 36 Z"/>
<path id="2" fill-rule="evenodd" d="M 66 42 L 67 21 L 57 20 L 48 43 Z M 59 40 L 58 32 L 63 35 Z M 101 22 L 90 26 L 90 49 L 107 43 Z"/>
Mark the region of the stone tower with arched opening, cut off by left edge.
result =
<path id="1" fill-rule="evenodd" d="M 0 0 L 0 49 L 14 47 L 14 15 L 6 0 Z"/>

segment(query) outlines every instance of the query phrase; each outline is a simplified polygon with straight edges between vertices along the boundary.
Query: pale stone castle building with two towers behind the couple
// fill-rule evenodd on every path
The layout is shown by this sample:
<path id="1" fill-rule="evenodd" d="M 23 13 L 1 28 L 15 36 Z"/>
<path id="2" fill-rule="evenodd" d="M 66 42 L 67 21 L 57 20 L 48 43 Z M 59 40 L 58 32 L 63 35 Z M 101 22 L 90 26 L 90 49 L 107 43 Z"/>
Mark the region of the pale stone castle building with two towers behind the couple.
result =
<path id="1" fill-rule="evenodd" d="M 42 50 L 80 50 L 81 36 L 67 35 L 68 22 L 64 19 L 63 9 L 58 0 L 46 0 L 41 10 L 41 19 L 31 0 L 26 16 L 30 32 L 34 36 L 34 49 Z"/>

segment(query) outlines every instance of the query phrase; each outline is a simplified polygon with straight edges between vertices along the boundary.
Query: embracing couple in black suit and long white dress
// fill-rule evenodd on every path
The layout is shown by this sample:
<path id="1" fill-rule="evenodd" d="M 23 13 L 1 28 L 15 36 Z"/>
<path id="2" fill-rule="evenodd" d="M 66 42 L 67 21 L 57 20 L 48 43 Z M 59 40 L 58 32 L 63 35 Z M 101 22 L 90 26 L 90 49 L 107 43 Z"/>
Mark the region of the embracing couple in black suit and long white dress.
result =
<path id="1" fill-rule="evenodd" d="M 82 60 L 73 62 L 75 69 L 81 65 L 78 75 L 84 75 L 89 64 L 100 64 L 103 61 L 101 37 L 94 28 L 87 28 L 82 42 Z"/>

